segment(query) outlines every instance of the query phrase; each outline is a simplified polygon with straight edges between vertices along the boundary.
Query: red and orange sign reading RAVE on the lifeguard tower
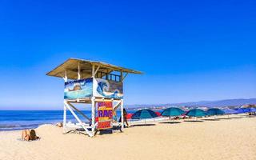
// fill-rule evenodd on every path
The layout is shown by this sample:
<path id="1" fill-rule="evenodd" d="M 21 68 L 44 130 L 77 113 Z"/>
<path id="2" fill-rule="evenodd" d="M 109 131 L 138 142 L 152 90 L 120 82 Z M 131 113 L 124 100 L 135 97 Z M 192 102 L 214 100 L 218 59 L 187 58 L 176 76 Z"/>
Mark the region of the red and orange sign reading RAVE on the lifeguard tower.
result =
<path id="1" fill-rule="evenodd" d="M 105 130 L 112 127 L 112 113 L 112 102 L 98 102 L 98 130 Z"/>

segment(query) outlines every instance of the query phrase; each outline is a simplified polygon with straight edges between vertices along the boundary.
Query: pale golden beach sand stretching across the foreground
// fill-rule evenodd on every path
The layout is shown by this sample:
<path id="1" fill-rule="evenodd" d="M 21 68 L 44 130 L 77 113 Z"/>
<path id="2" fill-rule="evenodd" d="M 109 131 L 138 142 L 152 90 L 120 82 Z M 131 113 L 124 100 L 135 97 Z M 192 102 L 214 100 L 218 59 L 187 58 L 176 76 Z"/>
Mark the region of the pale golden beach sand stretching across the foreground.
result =
<path id="1" fill-rule="evenodd" d="M 0 159 L 256 159 L 256 117 L 134 126 L 123 133 L 62 134 L 36 129 L 41 140 L 22 142 L 21 131 L 0 132 Z M 236 117 L 236 118 L 235 118 Z M 220 116 L 218 118 L 227 118 Z M 212 118 L 207 118 L 212 119 Z"/>

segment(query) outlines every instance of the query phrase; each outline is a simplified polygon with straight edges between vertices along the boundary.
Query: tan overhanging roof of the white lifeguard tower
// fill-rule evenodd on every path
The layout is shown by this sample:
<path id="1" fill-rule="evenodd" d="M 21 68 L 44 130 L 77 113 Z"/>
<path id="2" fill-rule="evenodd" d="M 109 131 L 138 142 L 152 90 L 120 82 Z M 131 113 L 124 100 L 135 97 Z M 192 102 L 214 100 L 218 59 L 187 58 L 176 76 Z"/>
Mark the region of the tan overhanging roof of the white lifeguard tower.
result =
<path id="1" fill-rule="evenodd" d="M 108 64 L 106 62 L 98 62 L 98 61 L 90 61 L 86 59 L 79 58 L 69 58 L 66 62 L 63 62 L 60 66 L 57 66 L 54 70 L 51 70 L 46 75 L 63 78 L 65 73 L 67 78 L 69 79 L 77 79 L 78 78 L 78 70 L 80 70 L 82 78 L 88 78 L 91 76 L 91 70 L 93 70 L 93 66 L 95 66 L 95 70 L 105 73 L 110 73 L 112 71 L 119 71 L 129 74 L 142 74 L 141 71 L 138 70 L 130 70 L 121 66 L 114 66 Z"/>

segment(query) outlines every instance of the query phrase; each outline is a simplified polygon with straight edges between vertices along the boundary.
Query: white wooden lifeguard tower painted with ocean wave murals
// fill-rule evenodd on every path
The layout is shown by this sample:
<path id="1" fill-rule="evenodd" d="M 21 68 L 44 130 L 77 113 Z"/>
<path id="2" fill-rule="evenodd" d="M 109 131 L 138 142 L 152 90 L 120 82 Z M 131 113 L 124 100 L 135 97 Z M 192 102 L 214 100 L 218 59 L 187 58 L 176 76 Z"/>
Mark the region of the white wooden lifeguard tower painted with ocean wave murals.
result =
<path id="1" fill-rule="evenodd" d="M 98 130 L 99 121 L 95 122 L 96 106 L 98 115 L 102 115 L 101 129 L 123 124 L 123 81 L 128 74 L 142 74 L 137 70 L 130 70 L 120 66 L 114 66 L 105 62 L 89 61 L 78 58 L 69 58 L 66 62 L 51 70 L 48 76 L 63 78 L 64 89 L 64 113 L 63 132 L 82 129 L 90 137 Z M 106 103 L 107 102 L 107 103 Z M 76 103 L 91 104 L 91 118 L 83 114 L 74 106 Z M 112 110 L 121 109 L 121 122 L 112 121 Z M 67 123 L 66 111 L 70 110 L 78 123 Z M 75 110 L 75 111 L 74 111 Z M 90 122 L 83 122 L 80 116 Z M 105 117 L 104 117 L 105 116 Z M 110 118 L 107 118 L 109 116 Z M 105 122 L 105 123 L 104 123 Z"/>

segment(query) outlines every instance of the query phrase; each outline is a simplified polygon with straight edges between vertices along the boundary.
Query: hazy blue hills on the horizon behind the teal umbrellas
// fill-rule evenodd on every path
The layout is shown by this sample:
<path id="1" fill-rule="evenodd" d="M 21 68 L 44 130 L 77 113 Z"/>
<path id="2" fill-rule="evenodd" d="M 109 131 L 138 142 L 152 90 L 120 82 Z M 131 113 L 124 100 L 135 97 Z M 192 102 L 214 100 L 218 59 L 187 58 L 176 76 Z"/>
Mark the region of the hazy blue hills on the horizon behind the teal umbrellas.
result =
<path id="1" fill-rule="evenodd" d="M 128 105 L 128 108 L 148 108 L 153 106 L 206 106 L 206 107 L 223 107 L 223 106 L 242 106 L 246 104 L 256 104 L 256 98 L 250 99 L 225 99 L 219 101 L 200 101 L 200 102 L 181 102 L 155 105 Z"/>

